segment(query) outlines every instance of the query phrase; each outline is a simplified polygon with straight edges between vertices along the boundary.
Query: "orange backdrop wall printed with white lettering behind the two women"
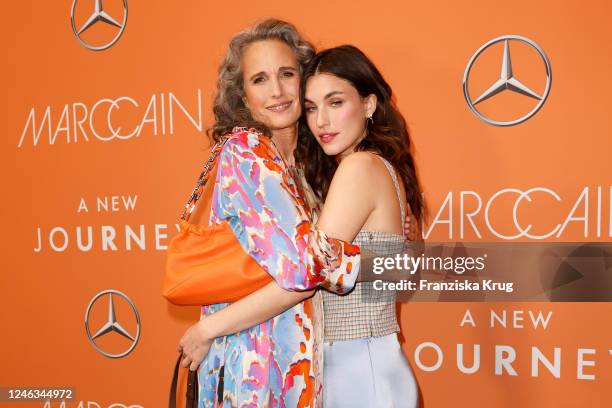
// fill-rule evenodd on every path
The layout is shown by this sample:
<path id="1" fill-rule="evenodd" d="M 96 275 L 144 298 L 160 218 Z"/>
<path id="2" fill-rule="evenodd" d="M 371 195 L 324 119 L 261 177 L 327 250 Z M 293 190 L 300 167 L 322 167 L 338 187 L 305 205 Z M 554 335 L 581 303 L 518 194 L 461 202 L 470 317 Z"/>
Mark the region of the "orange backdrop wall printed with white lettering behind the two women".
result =
<path id="1" fill-rule="evenodd" d="M 198 318 L 197 308 L 161 297 L 165 245 L 205 158 L 215 73 L 228 40 L 264 17 L 295 23 L 318 47 L 355 44 L 380 67 L 410 126 L 429 240 L 503 241 L 492 230 L 516 233 L 515 197 L 499 197 L 489 224 L 487 202 L 507 188 L 542 187 L 559 199 L 536 191 L 521 204 L 521 223 L 533 224 L 533 234 L 568 220 L 549 240 L 612 241 L 608 2 L 127 3 L 125 31 L 101 52 L 75 38 L 68 0 L 4 7 L 0 386 L 74 387 L 66 407 L 165 406 L 177 342 Z M 76 25 L 93 4 L 76 3 Z M 122 18 L 121 1 L 104 7 Z M 103 43 L 116 32 L 97 23 L 82 38 Z M 535 116 L 494 127 L 468 109 L 462 78 L 472 54 L 504 34 L 537 42 L 553 81 Z M 510 47 L 516 77 L 541 92 L 542 61 L 528 46 Z M 491 47 L 474 65 L 472 97 L 499 77 L 502 49 Z M 507 119 L 533 104 L 506 92 L 479 107 Z M 473 225 L 462 211 L 476 211 Z M 106 289 L 125 293 L 140 315 L 139 342 L 124 358 L 99 354 L 86 335 L 87 306 Z M 129 305 L 114 299 L 117 319 L 135 333 Z M 105 302 L 91 309 L 94 331 L 107 319 Z M 468 309 L 474 325 L 461 325 Z M 492 311 L 503 310 L 519 320 L 491 327 Z M 534 328 L 529 311 L 551 313 L 546 328 Z M 426 407 L 608 406 L 611 311 L 608 303 L 406 304 L 403 346 Z M 111 353 L 129 344 L 116 333 L 98 341 Z M 480 346 L 472 374 L 457 368 L 461 344 L 468 367 Z M 541 363 L 535 375 L 532 358 L 539 351 L 552 361 L 555 348 L 558 378 Z M 496 349 L 514 350 L 516 375 L 496 374 Z"/>

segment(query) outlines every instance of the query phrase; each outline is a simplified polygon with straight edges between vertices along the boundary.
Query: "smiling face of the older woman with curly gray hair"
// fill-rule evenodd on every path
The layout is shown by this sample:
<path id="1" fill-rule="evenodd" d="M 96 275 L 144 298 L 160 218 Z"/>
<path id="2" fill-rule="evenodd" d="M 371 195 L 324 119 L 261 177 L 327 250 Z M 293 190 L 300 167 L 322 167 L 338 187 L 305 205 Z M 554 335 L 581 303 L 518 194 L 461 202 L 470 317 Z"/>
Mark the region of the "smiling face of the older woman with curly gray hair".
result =
<path id="1" fill-rule="evenodd" d="M 293 50 L 278 40 L 250 44 L 242 54 L 244 102 L 270 130 L 295 127 L 301 114 L 300 71 Z"/>

